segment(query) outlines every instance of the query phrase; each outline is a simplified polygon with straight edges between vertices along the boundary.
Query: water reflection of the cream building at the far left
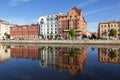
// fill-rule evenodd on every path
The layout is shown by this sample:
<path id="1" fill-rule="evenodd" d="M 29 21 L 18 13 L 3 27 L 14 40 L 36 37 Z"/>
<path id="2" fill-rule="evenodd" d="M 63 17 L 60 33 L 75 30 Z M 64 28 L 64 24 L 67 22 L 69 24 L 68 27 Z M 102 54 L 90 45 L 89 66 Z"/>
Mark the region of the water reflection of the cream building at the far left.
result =
<path id="1" fill-rule="evenodd" d="M 9 46 L 0 46 L 0 63 L 3 63 L 11 58 Z"/>

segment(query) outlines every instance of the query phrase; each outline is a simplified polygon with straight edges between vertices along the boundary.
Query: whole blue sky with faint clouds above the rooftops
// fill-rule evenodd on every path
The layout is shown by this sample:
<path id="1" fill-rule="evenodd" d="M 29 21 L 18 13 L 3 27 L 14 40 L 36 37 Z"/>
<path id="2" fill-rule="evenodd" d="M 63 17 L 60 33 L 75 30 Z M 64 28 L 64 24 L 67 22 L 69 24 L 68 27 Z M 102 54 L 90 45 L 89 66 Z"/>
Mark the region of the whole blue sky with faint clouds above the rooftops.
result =
<path id="1" fill-rule="evenodd" d="M 120 20 L 120 0 L 0 0 L 0 19 L 14 24 L 37 23 L 42 15 L 67 13 L 73 6 L 82 9 L 88 31 L 98 23 Z"/>

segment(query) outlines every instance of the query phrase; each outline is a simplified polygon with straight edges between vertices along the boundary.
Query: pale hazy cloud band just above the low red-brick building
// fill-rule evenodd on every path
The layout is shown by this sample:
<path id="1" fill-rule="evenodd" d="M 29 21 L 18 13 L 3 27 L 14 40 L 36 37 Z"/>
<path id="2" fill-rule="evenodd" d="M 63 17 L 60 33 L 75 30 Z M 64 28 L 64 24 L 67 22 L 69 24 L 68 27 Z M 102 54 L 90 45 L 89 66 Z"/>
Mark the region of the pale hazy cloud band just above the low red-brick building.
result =
<path id="1" fill-rule="evenodd" d="M 37 19 L 25 19 L 25 18 L 19 18 L 19 17 L 6 17 L 6 18 L 2 18 L 5 21 L 8 21 L 12 24 L 36 24 L 37 23 Z"/>

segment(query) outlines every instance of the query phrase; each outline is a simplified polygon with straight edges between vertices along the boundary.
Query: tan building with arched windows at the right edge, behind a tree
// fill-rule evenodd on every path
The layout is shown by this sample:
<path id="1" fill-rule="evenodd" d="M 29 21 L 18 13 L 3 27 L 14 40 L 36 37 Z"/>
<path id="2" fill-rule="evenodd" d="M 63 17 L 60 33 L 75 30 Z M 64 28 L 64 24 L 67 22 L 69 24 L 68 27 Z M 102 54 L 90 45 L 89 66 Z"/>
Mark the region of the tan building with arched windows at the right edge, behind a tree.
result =
<path id="1" fill-rule="evenodd" d="M 120 21 L 104 21 L 100 22 L 98 26 L 98 37 L 110 39 L 112 36 L 109 35 L 111 29 L 115 29 L 117 31 L 117 35 L 114 37 L 116 39 L 120 39 Z"/>

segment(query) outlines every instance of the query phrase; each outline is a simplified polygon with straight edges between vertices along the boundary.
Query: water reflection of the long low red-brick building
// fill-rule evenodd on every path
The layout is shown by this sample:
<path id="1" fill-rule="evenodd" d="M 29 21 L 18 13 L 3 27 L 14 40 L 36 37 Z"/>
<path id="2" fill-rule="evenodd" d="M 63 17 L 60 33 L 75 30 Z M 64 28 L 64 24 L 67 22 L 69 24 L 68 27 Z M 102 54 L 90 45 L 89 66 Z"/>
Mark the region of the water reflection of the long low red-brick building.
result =
<path id="1" fill-rule="evenodd" d="M 38 59 L 38 47 L 36 46 L 11 46 L 11 57 Z"/>

